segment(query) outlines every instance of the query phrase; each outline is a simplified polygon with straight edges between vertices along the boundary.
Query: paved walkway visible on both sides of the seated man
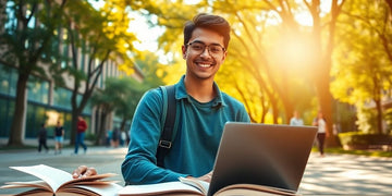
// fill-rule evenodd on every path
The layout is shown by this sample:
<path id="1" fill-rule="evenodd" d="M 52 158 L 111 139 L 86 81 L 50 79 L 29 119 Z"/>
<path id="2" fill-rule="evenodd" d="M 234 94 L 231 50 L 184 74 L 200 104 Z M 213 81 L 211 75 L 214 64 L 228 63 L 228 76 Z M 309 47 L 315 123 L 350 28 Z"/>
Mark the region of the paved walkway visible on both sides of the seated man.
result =
<path id="1" fill-rule="evenodd" d="M 113 172 L 112 180 L 123 182 L 120 166 L 126 148 L 89 147 L 86 155 L 38 154 L 36 150 L 0 150 L 0 185 L 9 181 L 34 181 L 34 176 L 9 169 L 10 166 L 48 164 L 70 173 L 81 164 L 94 166 L 100 173 Z M 123 185 L 123 183 L 119 183 Z M 15 189 L 0 189 L 13 194 Z M 310 155 L 299 186 L 303 195 L 392 195 L 392 158 L 350 155 Z"/>

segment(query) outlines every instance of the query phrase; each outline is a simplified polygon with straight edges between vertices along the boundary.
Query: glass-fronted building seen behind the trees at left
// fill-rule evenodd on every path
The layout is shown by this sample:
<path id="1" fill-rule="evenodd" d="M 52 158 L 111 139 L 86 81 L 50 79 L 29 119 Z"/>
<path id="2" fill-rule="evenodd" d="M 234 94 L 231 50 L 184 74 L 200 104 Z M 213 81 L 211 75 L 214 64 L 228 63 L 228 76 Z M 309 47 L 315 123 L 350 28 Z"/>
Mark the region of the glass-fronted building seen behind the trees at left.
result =
<path id="1" fill-rule="evenodd" d="M 7 3 L 5 0 L 0 0 L 1 5 Z M 2 7 L 4 9 L 4 7 Z M 12 23 L 12 19 L 8 15 L 8 11 L 0 9 L 0 20 L 7 17 L 7 23 L 0 25 L 0 34 L 7 29 L 7 25 Z M 38 23 L 36 23 L 39 25 Z M 62 54 L 69 54 L 71 57 L 71 47 L 68 46 L 68 41 L 64 40 L 64 36 L 61 30 L 58 33 L 59 42 L 56 44 L 59 52 Z M 5 52 L 7 48 L 0 48 L 0 52 Z M 1 53 L 0 53 L 1 54 Z M 0 56 L 1 57 L 1 56 Z M 87 72 L 87 61 L 89 57 L 85 53 L 82 53 L 82 50 L 77 50 L 77 61 L 82 65 L 81 69 Z M 102 72 L 98 78 L 96 88 L 105 88 L 105 81 L 108 77 L 117 77 L 117 76 L 127 76 L 124 72 L 120 71 L 117 62 L 108 60 L 105 62 L 102 66 Z M 98 61 L 97 61 L 98 63 Z M 61 63 L 61 66 L 66 66 L 66 62 Z M 48 65 L 41 64 L 42 69 L 48 72 Z M 132 77 L 137 81 L 143 81 L 143 74 L 137 68 L 136 64 L 133 65 L 134 74 Z M 0 61 L 0 138 L 2 140 L 7 139 L 10 135 L 11 124 L 13 120 L 13 113 L 15 108 L 15 96 L 16 96 L 16 82 L 19 77 L 17 65 L 5 65 Z M 50 75 L 50 74 L 47 74 Z M 60 121 L 65 128 L 65 139 L 69 139 L 71 136 L 71 96 L 74 86 L 74 78 L 64 73 L 62 75 L 65 84 L 63 86 L 58 86 L 54 83 L 54 78 L 46 78 L 39 76 L 39 74 L 33 73 L 27 83 L 26 90 L 26 109 L 23 117 L 23 138 L 36 138 L 38 130 L 40 128 L 41 123 L 46 123 L 48 125 L 48 136 L 53 135 L 53 126 L 58 121 Z M 85 84 L 82 84 L 82 88 L 79 89 L 82 96 L 83 88 Z M 85 109 L 82 112 L 82 115 L 88 123 L 87 133 L 96 133 L 98 130 L 98 125 L 100 124 L 100 111 L 87 103 Z M 112 128 L 117 123 L 117 118 L 113 114 L 109 117 L 109 124 L 107 124 L 106 130 Z M 114 123 L 114 124 L 113 124 Z"/>

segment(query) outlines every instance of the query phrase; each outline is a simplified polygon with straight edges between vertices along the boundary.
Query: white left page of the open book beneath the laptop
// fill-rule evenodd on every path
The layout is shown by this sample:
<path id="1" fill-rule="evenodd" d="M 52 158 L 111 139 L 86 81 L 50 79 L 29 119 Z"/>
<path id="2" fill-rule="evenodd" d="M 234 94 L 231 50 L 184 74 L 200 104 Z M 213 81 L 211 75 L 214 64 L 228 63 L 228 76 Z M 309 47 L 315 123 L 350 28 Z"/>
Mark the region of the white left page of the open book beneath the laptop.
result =
<path id="1" fill-rule="evenodd" d="M 196 187 L 186 185 L 182 182 L 167 182 L 158 184 L 145 185 L 127 185 L 119 192 L 119 196 L 134 196 L 134 195 L 163 195 L 163 194 L 193 194 L 204 195 Z"/>

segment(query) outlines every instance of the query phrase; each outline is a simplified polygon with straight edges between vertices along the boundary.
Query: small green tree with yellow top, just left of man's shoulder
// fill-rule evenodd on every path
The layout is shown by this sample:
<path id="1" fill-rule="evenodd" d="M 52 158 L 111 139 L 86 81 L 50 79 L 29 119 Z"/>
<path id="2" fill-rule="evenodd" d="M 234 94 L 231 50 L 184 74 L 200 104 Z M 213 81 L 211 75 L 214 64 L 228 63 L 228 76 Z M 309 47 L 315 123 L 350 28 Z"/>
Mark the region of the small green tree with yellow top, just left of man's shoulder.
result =
<path id="1" fill-rule="evenodd" d="M 120 130 L 124 131 L 125 123 L 133 118 L 135 109 L 143 94 L 157 86 L 164 85 L 162 77 L 168 73 L 162 64 L 158 62 L 158 57 L 149 51 L 135 53 L 135 63 L 145 73 L 144 81 L 137 82 L 132 77 L 113 77 L 105 82 L 106 88 L 97 90 L 91 97 L 93 103 L 98 106 L 101 111 L 101 124 L 97 133 L 96 144 L 105 136 L 106 117 L 114 111 L 117 117 L 121 117 Z"/>

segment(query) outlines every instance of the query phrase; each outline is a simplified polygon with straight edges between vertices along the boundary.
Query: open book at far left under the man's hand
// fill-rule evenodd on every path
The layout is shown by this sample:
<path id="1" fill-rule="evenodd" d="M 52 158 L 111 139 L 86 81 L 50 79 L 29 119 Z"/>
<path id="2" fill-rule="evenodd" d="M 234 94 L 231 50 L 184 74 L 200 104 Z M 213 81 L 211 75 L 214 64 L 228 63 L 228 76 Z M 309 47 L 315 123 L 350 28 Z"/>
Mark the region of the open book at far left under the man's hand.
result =
<path id="1" fill-rule="evenodd" d="M 117 195 L 122 186 L 115 184 L 114 181 L 102 181 L 102 179 L 117 175 L 114 173 L 98 174 L 87 177 L 73 179 L 72 174 L 51 168 L 45 164 L 32 167 L 10 167 L 39 177 L 42 181 L 32 182 L 8 182 L 0 188 L 29 188 L 15 195 L 28 196 L 61 196 L 61 195 Z"/>

